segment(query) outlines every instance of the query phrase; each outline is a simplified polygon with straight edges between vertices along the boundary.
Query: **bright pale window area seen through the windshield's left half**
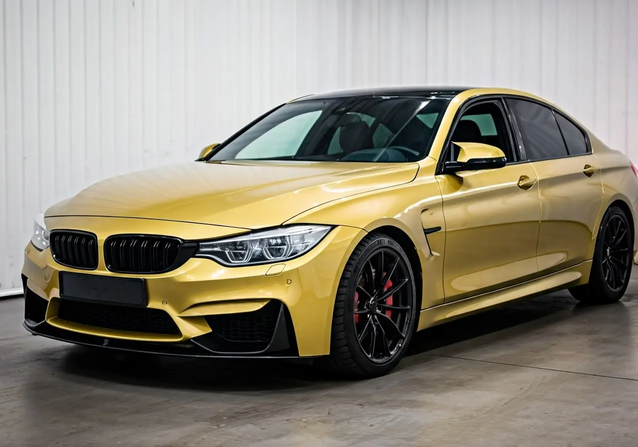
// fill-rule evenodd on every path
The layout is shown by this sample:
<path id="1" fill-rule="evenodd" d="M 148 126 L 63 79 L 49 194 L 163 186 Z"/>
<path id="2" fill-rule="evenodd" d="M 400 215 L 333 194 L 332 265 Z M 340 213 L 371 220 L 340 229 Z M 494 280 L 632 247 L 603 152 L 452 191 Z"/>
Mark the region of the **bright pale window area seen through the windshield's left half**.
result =
<path id="1" fill-rule="evenodd" d="M 321 110 L 307 112 L 286 119 L 253 140 L 236 156 L 242 158 L 269 158 L 297 154 L 310 128 L 321 115 Z"/>

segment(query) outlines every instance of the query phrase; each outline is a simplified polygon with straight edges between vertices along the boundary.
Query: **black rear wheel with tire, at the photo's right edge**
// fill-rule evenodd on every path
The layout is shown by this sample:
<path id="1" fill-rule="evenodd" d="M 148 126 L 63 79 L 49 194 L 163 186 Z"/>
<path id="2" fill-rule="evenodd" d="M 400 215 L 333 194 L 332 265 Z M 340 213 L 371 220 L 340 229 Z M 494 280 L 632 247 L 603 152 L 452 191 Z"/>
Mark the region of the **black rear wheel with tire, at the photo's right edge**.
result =
<path id="1" fill-rule="evenodd" d="M 634 264 L 633 254 L 632 223 L 625 211 L 612 206 L 607 209 L 598 229 L 590 280 L 588 284 L 569 289 L 570 294 L 591 305 L 616 303 L 627 290 Z"/>

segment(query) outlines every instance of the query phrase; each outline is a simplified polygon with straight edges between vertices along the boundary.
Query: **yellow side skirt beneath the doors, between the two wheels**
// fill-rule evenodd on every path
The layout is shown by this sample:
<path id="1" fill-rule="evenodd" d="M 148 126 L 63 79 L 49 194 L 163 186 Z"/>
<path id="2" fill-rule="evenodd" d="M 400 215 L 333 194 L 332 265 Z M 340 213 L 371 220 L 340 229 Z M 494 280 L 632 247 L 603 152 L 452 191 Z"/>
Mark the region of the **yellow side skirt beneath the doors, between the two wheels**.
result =
<path id="1" fill-rule="evenodd" d="M 517 299 L 531 298 L 575 285 L 586 284 L 590 278 L 590 271 L 591 261 L 585 261 L 577 266 L 522 284 L 421 310 L 417 331 L 476 314 Z"/>

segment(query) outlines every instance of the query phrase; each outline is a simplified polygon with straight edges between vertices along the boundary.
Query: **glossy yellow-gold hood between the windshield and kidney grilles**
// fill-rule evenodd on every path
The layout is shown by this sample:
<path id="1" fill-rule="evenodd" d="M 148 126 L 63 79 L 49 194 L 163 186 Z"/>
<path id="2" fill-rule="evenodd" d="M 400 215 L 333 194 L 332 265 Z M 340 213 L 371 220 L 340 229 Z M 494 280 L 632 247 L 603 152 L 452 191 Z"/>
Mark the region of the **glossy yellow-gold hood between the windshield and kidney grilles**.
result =
<path id="1" fill-rule="evenodd" d="M 191 162 L 100 181 L 45 216 L 115 216 L 258 229 L 349 195 L 412 181 L 417 163 Z"/>

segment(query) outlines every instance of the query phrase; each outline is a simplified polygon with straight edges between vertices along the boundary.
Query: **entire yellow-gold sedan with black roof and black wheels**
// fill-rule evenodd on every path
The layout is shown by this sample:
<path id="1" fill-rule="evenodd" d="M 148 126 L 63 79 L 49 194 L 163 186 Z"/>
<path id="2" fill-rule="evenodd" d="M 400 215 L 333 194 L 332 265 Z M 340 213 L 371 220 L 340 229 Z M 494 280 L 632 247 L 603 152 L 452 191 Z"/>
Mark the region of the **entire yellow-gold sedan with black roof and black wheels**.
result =
<path id="1" fill-rule="evenodd" d="M 36 219 L 24 326 L 112 349 L 396 367 L 417 330 L 558 289 L 613 303 L 637 170 L 521 91 L 311 95 Z"/>

